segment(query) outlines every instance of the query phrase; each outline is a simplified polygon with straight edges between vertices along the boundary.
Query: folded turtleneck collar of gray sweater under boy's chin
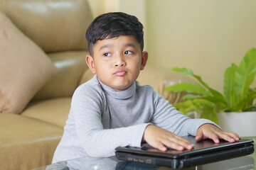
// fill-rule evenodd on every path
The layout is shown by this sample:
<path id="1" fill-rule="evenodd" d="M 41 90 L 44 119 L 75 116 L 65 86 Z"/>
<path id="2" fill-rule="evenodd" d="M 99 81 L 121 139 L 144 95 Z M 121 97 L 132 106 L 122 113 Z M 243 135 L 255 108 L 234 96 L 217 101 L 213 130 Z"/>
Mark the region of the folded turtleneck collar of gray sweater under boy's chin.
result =
<path id="1" fill-rule="evenodd" d="M 105 92 L 105 94 L 107 94 L 108 96 L 111 96 L 112 98 L 116 98 L 116 99 L 120 99 L 120 100 L 129 99 L 129 98 L 132 98 L 132 96 L 134 96 L 135 91 L 136 91 L 135 81 L 127 89 L 125 89 L 123 91 L 115 91 L 110 86 L 103 84 L 102 81 L 100 81 L 100 79 L 97 78 L 97 80 L 100 82 L 100 85 L 102 86 L 102 89 Z"/>

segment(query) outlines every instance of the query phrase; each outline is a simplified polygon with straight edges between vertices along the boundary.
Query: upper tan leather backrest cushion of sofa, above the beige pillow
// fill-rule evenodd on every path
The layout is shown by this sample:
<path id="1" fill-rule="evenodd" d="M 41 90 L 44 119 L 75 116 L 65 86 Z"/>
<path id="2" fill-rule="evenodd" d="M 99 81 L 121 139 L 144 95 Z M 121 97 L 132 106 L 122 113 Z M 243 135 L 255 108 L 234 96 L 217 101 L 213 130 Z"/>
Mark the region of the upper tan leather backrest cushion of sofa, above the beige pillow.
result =
<path id="1" fill-rule="evenodd" d="M 87 49 L 92 14 L 85 0 L 1 0 L 1 10 L 45 52 Z"/>

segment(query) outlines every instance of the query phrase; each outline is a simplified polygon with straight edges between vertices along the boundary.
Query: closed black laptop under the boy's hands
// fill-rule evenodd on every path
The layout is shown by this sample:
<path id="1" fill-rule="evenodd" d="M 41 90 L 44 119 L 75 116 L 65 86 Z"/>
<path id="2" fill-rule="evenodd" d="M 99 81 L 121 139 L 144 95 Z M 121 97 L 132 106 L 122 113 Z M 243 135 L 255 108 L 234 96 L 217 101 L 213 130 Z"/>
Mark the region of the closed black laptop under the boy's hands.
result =
<path id="1" fill-rule="evenodd" d="M 115 154 L 117 159 L 124 161 L 181 169 L 241 157 L 254 152 L 253 140 L 241 139 L 239 142 L 234 143 L 220 140 L 219 144 L 215 144 L 213 140 L 196 142 L 193 136 L 186 136 L 184 138 L 195 145 L 192 150 L 177 151 L 175 149 L 168 149 L 166 152 L 162 152 L 145 143 L 141 148 L 117 147 Z"/>

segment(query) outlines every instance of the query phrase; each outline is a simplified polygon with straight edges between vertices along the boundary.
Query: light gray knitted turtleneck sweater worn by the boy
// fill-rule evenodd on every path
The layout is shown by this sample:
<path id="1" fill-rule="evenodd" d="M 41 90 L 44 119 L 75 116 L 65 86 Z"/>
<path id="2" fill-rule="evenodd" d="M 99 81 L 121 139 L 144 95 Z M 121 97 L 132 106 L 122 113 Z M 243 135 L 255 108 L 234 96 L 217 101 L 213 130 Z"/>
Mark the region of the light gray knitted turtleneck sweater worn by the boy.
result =
<path id="1" fill-rule="evenodd" d="M 95 76 L 73 94 L 53 163 L 88 155 L 110 157 L 116 147 L 141 147 L 149 123 L 180 136 L 196 135 L 201 125 L 214 124 L 178 112 L 151 86 L 135 81 L 124 91 L 114 91 Z"/>

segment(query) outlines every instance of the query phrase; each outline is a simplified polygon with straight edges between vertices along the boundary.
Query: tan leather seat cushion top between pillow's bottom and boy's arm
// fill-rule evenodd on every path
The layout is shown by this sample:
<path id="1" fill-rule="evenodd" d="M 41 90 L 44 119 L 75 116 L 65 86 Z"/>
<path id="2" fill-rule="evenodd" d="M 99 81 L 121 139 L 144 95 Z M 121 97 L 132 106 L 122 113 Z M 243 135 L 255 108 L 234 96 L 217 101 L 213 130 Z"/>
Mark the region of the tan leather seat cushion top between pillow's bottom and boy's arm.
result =
<path id="1" fill-rule="evenodd" d="M 29 103 L 28 107 L 21 115 L 64 127 L 65 121 L 68 119 L 70 104 L 71 97 L 33 101 Z"/>

